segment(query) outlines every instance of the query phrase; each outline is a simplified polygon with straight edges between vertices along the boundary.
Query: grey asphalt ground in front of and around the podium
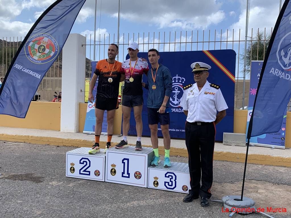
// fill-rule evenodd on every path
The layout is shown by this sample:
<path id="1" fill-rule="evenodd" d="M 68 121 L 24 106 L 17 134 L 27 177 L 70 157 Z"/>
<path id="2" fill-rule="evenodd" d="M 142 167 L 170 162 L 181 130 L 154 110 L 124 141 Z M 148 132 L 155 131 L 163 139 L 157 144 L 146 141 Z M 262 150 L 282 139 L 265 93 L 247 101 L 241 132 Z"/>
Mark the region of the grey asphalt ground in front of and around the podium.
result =
<path id="1" fill-rule="evenodd" d="M 202 208 L 200 199 L 183 203 L 185 194 L 178 192 L 65 177 L 65 153 L 73 149 L 0 141 L 0 217 L 228 217 L 220 202 Z M 242 163 L 214 161 L 212 199 L 239 195 L 243 170 Z M 269 214 L 291 217 L 290 190 L 290 168 L 247 165 L 244 196 L 253 197 L 257 208 L 287 208 Z"/>

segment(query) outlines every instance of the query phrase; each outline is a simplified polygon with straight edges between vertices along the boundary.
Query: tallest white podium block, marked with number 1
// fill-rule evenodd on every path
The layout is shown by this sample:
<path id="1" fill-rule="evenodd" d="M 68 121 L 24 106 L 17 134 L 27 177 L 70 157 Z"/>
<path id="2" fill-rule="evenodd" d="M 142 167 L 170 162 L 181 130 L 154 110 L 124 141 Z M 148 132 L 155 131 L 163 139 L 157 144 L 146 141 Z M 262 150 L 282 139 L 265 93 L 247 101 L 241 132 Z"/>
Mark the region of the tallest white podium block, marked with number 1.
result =
<path id="1" fill-rule="evenodd" d="M 134 146 L 124 149 L 111 148 L 106 153 L 105 181 L 139 187 L 147 187 L 148 166 L 152 160 L 152 148 L 135 151 Z"/>

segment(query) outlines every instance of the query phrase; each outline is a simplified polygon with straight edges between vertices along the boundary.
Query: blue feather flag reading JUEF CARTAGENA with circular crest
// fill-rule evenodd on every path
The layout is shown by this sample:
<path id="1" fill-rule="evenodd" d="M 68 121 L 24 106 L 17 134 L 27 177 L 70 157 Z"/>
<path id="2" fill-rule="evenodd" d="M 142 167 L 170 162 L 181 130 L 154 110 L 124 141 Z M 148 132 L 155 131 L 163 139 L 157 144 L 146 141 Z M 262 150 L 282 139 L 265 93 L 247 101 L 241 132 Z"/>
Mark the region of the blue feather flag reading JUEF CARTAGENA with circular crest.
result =
<path id="1" fill-rule="evenodd" d="M 55 1 L 31 27 L 0 87 L 0 114 L 25 118 L 32 97 L 59 56 L 85 1 Z"/>

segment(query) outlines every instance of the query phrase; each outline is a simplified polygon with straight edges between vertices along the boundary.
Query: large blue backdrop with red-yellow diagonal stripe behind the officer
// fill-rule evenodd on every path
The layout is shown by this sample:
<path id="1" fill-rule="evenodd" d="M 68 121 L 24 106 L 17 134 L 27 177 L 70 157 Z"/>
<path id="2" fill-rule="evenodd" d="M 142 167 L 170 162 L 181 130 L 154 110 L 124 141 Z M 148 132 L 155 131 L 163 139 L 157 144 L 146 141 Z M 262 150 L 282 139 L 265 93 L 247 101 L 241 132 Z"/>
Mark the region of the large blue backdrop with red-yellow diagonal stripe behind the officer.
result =
<path id="1" fill-rule="evenodd" d="M 183 86 L 193 84 L 194 78 L 190 65 L 193 62 L 205 62 L 211 66 L 207 81 L 220 85 L 223 97 L 228 105 L 226 117 L 216 126 L 216 140 L 222 141 L 223 132 L 233 133 L 233 111 L 234 111 L 234 90 L 235 90 L 235 60 L 236 53 L 233 50 L 212 50 L 212 51 L 175 51 L 160 52 L 159 63 L 170 69 L 173 77 L 173 92 L 169 99 L 171 107 L 171 124 L 169 131 L 171 138 L 185 138 L 185 122 L 183 108 L 179 106 L 182 95 Z M 138 53 L 140 58 L 147 58 L 148 53 Z M 127 59 L 129 56 L 127 55 Z M 149 61 L 148 61 L 149 63 Z M 149 64 L 150 65 L 150 64 Z M 150 67 L 150 66 L 149 66 Z M 150 74 L 149 74 L 150 75 Z M 147 83 L 147 76 L 143 76 L 143 82 Z M 148 91 L 143 89 L 143 136 L 150 136 L 147 114 Z M 130 115 L 128 135 L 136 135 L 136 123 L 133 110 Z M 162 131 L 158 126 L 158 136 L 162 137 Z"/>

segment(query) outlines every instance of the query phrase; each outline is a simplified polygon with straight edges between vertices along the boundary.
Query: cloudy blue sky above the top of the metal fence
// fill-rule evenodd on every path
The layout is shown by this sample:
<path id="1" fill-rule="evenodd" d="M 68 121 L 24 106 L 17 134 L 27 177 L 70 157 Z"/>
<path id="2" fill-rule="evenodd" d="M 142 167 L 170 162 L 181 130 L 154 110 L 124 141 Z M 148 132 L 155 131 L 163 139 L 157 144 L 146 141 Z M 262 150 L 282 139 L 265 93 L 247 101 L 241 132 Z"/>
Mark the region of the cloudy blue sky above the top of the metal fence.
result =
<path id="1" fill-rule="evenodd" d="M 36 19 L 53 2 L 54 0 L 0 0 L 0 38 L 24 37 Z M 270 31 L 278 17 L 279 0 L 250 2 L 249 30 L 266 28 L 267 32 Z M 94 33 L 94 9 L 95 0 L 87 0 L 71 33 Z M 118 0 L 97 1 L 96 31 L 97 35 L 102 36 L 100 41 L 104 41 L 104 34 L 108 40 L 109 33 L 117 33 L 117 14 Z M 209 30 L 214 32 L 215 29 L 217 37 L 220 37 L 222 30 L 224 38 L 227 29 L 231 33 L 234 29 L 234 39 L 237 40 L 239 29 L 244 38 L 245 17 L 246 0 L 121 0 L 120 40 L 123 40 L 123 33 L 147 35 L 148 32 L 158 34 L 183 31 L 184 35 L 186 31 L 205 30 L 208 34 Z M 228 38 L 232 40 L 232 34 L 228 34 Z"/>

